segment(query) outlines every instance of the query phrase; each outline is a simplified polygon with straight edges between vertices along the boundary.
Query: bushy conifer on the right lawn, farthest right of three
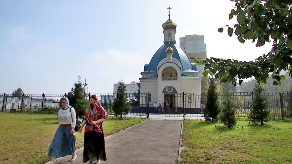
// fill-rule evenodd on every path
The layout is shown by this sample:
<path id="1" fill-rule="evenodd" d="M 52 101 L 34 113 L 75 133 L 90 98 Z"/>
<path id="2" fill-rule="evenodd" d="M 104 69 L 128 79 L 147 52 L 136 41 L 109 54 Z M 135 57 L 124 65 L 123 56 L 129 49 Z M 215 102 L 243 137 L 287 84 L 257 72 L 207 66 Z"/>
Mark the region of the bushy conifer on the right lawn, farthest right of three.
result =
<path id="1" fill-rule="evenodd" d="M 260 125 L 264 125 L 264 122 L 269 121 L 270 109 L 268 106 L 268 99 L 265 95 L 265 89 L 260 84 L 256 84 L 254 91 L 254 99 L 251 103 L 250 113 L 248 119 L 257 124 L 260 122 Z"/>

